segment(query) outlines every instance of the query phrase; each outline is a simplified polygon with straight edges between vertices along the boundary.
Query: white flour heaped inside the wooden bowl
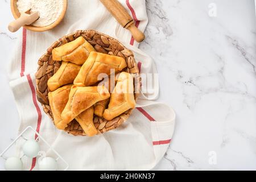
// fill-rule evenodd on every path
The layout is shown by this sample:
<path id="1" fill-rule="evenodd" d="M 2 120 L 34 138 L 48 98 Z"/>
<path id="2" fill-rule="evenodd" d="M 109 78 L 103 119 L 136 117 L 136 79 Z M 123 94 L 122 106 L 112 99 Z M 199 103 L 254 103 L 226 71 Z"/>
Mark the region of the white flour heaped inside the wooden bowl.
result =
<path id="1" fill-rule="evenodd" d="M 59 18 L 63 9 L 63 0 L 18 0 L 19 12 L 31 9 L 30 12 L 39 12 L 40 18 L 32 25 L 43 27 L 52 24 Z"/>

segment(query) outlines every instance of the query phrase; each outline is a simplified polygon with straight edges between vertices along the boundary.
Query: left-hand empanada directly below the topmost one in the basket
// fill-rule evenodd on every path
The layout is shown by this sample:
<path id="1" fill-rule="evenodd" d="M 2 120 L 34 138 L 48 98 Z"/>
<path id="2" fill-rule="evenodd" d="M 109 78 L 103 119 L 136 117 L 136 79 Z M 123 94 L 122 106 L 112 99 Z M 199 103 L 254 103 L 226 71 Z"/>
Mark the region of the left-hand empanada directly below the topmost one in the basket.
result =
<path id="1" fill-rule="evenodd" d="M 54 91 L 62 85 L 71 84 L 79 73 L 80 68 L 81 66 L 79 65 L 63 62 L 58 71 L 49 78 L 47 82 L 49 90 Z"/>

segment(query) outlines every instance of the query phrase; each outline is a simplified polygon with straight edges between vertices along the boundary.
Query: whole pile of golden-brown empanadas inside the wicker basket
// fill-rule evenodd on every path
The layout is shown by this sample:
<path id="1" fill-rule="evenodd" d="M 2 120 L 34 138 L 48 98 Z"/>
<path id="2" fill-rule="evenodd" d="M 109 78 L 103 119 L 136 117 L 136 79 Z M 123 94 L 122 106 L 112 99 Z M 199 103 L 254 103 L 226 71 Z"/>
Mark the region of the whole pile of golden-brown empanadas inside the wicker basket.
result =
<path id="1" fill-rule="evenodd" d="M 123 57 L 96 52 L 80 36 L 54 48 L 52 59 L 62 61 L 47 82 L 49 106 L 58 129 L 64 130 L 76 119 L 84 133 L 93 136 L 98 133 L 94 115 L 111 121 L 135 107 L 133 77 L 122 72 L 127 67 Z M 114 81 L 110 81 L 113 72 Z"/>

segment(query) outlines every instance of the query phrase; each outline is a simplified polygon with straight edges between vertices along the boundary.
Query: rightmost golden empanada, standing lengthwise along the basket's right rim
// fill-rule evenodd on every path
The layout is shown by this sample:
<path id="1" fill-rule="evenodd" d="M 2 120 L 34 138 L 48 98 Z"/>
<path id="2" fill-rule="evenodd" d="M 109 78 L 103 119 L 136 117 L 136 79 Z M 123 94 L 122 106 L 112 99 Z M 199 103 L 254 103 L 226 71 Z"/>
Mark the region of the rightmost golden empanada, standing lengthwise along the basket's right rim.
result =
<path id="1" fill-rule="evenodd" d="M 133 77 L 130 73 L 120 73 L 117 84 L 110 97 L 108 109 L 105 109 L 103 117 L 112 120 L 125 111 L 134 108 L 136 105 L 134 100 Z"/>

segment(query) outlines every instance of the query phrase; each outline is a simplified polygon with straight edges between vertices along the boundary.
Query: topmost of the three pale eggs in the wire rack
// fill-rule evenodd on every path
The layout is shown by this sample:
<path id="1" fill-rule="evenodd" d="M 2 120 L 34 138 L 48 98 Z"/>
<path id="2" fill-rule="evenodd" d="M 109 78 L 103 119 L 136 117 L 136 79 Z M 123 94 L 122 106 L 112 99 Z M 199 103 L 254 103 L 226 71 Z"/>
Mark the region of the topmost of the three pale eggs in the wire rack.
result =
<path id="1" fill-rule="evenodd" d="M 23 154 L 28 158 L 34 158 L 38 155 L 40 147 L 36 140 L 27 140 L 22 147 Z"/>

